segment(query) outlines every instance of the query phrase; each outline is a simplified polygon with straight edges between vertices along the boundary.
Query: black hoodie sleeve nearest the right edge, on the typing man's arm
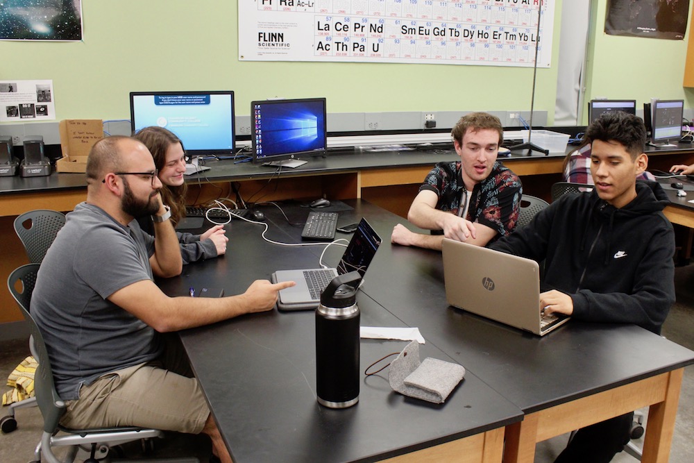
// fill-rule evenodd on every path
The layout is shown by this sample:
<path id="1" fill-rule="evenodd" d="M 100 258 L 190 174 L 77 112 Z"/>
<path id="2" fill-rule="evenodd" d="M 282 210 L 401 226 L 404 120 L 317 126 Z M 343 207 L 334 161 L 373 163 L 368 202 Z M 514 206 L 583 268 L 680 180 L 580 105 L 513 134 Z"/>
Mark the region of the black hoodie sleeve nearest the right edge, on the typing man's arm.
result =
<path id="1" fill-rule="evenodd" d="M 674 254 L 672 228 L 657 230 L 649 238 L 645 257 L 636 267 L 632 294 L 597 294 L 581 289 L 571 295 L 574 317 L 588 321 L 635 323 L 659 334 L 670 306 L 675 303 Z"/>

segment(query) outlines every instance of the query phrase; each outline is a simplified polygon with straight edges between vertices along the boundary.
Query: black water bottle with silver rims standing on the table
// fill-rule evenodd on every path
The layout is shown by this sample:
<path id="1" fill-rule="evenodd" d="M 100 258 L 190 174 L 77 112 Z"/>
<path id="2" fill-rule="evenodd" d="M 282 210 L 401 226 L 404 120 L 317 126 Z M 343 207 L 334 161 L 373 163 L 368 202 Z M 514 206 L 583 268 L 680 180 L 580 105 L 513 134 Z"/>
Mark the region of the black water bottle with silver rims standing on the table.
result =
<path id="1" fill-rule="evenodd" d="M 359 401 L 358 271 L 335 277 L 316 310 L 316 390 L 318 403 L 351 407 Z"/>

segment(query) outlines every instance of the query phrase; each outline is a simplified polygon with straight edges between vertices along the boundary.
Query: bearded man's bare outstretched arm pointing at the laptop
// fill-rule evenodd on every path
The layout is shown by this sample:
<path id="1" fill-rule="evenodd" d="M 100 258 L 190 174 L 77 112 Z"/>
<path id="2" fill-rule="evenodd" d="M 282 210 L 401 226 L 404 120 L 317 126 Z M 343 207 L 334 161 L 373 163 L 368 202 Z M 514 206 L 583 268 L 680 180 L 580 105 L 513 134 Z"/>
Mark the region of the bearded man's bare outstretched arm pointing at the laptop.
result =
<path id="1" fill-rule="evenodd" d="M 108 300 L 158 332 L 170 332 L 271 310 L 280 289 L 294 285 L 293 281 L 273 284 L 256 280 L 243 294 L 196 298 L 169 297 L 152 280 L 140 280 L 117 290 L 108 296 Z"/>

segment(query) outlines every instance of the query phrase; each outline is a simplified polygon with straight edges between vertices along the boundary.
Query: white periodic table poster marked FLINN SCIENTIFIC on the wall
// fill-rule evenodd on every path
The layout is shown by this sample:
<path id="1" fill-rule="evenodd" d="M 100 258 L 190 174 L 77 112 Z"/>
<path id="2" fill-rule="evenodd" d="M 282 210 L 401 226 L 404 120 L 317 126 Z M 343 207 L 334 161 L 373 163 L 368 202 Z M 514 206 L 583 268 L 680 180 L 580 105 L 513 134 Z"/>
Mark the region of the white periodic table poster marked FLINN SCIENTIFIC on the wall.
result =
<path id="1" fill-rule="evenodd" d="M 540 13 L 539 42 L 537 33 Z M 239 60 L 550 67 L 555 0 L 239 0 Z"/>

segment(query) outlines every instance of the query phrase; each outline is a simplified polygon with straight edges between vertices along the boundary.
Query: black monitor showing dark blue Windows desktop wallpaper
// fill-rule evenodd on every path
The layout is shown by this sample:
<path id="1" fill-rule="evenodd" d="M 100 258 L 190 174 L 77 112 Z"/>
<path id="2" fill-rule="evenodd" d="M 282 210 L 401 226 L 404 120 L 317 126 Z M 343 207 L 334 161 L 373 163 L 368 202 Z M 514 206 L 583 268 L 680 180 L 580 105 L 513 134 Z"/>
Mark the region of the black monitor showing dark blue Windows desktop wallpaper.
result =
<path id="1" fill-rule="evenodd" d="M 297 167 L 296 158 L 325 155 L 327 120 L 325 98 L 251 102 L 253 162 Z"/>

